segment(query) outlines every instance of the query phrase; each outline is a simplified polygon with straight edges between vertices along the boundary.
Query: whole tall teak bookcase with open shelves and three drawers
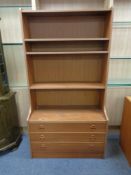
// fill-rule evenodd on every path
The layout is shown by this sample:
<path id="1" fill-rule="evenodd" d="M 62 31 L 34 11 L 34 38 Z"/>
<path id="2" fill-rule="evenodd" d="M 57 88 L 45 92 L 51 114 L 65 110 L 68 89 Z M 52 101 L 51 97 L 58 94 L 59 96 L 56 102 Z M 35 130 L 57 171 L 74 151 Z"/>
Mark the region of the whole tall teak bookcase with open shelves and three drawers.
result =
<path id="1" fill-rule="evenodd" d="M 21 14 L 32 157 L 104 157 L 112 10 Z"/>

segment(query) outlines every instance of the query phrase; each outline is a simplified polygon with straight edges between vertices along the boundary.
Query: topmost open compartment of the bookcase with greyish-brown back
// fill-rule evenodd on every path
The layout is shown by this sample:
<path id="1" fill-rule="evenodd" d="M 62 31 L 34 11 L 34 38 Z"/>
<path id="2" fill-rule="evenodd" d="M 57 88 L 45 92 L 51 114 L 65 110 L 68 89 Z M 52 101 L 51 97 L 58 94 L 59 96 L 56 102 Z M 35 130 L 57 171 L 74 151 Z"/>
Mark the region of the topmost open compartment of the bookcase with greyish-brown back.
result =
<path id="1" fill-rule="evenodd" d="M 27 29 L 24 38 L 109 38 L 110 13 L 111 10 L 22 11 Z"/>

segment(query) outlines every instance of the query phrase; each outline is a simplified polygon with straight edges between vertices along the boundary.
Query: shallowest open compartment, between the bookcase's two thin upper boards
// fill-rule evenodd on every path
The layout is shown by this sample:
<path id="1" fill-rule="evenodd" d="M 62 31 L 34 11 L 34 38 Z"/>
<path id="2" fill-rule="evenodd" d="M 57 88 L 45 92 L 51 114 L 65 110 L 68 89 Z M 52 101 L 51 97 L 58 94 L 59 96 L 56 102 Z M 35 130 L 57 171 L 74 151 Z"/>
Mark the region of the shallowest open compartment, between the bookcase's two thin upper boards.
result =
<path id="1" fill-rule="evenodd" d="M 31 54 L 91 54 L 106 53 L 108 40 L 96 39 L 38 39 L 25 43 L 27 55 Z"/>

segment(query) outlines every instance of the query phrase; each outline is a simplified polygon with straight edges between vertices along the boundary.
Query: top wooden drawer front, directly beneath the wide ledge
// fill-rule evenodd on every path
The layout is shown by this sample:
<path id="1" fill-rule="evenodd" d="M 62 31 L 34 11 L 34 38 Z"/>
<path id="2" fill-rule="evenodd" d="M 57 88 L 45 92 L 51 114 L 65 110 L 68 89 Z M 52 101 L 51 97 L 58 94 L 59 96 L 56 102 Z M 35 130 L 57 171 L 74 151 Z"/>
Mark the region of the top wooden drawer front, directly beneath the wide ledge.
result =
<path id="1" fill-rule="evenodd" d="M 29 123 L 30 132 L 105 132 L 106 123 Z"/>

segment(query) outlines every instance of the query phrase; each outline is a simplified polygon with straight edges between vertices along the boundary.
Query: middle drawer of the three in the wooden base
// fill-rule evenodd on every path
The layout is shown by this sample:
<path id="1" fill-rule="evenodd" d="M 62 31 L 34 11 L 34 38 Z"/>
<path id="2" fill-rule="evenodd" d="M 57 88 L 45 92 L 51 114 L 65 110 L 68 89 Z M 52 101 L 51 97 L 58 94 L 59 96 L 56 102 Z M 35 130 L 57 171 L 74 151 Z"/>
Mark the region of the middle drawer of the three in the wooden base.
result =
<path id="1" fill-rule="evenodd" d="M 104 142 L 104 133 L 30 133 L 31 142 Z"/>

